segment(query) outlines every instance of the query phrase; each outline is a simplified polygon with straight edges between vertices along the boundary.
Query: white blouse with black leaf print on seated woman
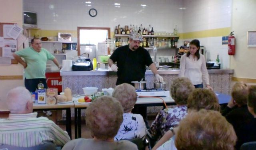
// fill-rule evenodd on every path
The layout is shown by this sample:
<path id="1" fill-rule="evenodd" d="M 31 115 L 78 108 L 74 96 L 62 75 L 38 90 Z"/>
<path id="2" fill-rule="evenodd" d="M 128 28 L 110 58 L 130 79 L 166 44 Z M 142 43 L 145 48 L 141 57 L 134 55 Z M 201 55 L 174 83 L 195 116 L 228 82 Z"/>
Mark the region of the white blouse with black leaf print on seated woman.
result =
<path id="1" fill-rule="evenodd" d="M 140 114 L 124 113 L 123 122 L 114 140 L 126 140 L 132 138 L 144 138 L 146 125 Z"/>

